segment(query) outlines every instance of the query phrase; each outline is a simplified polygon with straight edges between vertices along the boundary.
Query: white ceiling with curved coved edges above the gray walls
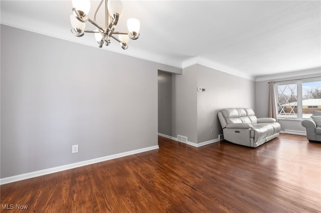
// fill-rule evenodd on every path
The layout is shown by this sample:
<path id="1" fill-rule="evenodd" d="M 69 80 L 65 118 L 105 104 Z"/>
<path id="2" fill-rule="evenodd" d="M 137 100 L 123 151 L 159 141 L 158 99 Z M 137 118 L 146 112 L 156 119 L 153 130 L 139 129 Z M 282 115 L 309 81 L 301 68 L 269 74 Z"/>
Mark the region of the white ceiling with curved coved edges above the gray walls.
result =
<path id="1" fill-rule="evenodd" d="M 98 3 L 91 1 L 92 19 Z M 136 17 L 140 37 L 130 40 L 127 50 L 115 40 L 103 49 L 183 68 L 199 63 L 249 79 L 320 70 L 319 0 L 123 0 L 123 4 L 116 30 L 127 31 L 127 18 Z M 70 14 L 71 0 L 1 0 L 3 24 L 97 46 L 93 34 L 76 37 L 70 32 Z M 102 17 L 97 22 L 104 25 Z M 94 27 L 87 23 L 86 29 Z"/>

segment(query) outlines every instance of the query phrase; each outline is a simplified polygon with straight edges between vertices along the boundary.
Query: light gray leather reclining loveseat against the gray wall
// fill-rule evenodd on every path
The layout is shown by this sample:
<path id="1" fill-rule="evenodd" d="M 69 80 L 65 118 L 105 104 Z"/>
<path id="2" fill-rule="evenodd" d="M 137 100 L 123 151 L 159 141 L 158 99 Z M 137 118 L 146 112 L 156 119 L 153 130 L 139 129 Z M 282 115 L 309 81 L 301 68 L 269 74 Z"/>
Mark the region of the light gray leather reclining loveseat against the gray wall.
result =
<path id="1" fill-rule="evenodd" d="M 257 118 L 251 108 L 224 108 L 218 112 L 224 139 L 257 147 L 279 135 L 281 126 L 274 118 Z"/>

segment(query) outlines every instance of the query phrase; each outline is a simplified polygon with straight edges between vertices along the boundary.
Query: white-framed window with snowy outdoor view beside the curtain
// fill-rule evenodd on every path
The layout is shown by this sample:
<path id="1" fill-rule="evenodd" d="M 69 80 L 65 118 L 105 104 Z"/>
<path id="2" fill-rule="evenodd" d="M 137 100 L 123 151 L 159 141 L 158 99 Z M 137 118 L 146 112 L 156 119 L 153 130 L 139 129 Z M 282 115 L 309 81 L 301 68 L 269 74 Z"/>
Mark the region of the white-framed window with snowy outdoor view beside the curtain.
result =
<path id="1" fill-rule="evenodd" d="M 280 81 L 274 84 L 279 119 L 304 119 L 321 110 L 320 78 Z"/>

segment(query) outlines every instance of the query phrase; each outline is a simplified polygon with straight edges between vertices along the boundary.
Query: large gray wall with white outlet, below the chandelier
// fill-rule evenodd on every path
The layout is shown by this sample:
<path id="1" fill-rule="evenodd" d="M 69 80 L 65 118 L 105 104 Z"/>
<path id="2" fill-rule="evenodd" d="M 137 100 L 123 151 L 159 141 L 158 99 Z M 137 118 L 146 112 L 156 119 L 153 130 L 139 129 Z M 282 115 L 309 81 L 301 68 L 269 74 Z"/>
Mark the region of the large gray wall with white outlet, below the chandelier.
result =
<path id="1" fill-rule="evenodd" d="M 157 145 L 158 68 L 1 25 L 1 178 Z"/>

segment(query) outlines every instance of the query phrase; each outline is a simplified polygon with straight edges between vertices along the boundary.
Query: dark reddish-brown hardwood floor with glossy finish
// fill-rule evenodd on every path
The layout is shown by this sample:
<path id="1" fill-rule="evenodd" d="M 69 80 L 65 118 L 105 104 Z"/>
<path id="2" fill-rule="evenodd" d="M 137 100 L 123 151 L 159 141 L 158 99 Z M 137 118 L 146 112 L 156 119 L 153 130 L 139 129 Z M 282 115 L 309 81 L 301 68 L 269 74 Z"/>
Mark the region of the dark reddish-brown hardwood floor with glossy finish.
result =
<path id="1" fill-rule="evenodd" d="M 257 148 L 158 141 L 158 150 L 1 185 L 1 212 L 321 212 L 321 144 L 305 136 Z"/>

